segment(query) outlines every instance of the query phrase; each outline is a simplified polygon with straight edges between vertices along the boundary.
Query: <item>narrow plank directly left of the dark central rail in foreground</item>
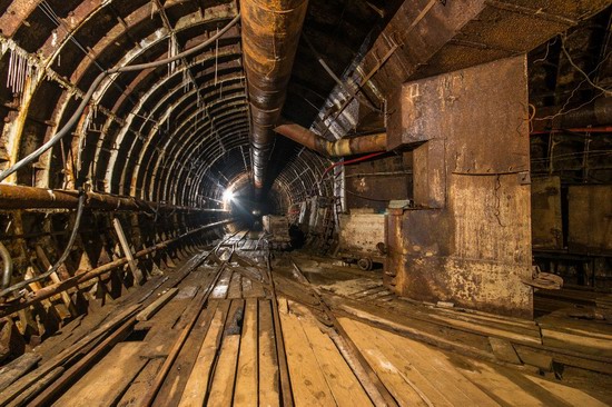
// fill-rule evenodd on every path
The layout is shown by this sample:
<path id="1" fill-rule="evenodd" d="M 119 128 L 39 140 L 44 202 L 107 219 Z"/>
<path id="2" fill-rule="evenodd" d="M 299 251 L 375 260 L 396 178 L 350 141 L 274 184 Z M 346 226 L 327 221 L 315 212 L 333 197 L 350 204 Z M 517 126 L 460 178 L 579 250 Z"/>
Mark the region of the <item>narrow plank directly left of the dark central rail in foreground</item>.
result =
<path id="1" fill-rule="evenodd" d="M 272 305 L 269 300 L 259 301 L 259 405 L 276 407 L 280 405 L 280 383 L 278 358 L 274 340 Z"/>

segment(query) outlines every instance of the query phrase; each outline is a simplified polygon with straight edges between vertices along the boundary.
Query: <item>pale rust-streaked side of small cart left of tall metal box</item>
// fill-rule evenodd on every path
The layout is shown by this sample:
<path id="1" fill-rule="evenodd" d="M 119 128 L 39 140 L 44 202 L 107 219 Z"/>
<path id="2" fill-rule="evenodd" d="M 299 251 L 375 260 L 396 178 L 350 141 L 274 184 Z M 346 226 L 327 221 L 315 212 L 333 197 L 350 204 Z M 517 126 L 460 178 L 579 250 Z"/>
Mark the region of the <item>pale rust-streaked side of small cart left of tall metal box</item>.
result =
<path id="1" fill-rule="evenodd" d="M 340 250 L 378 255 L 376 245 L 385 242 L 385 216 L 378 214 L 340 215 Z"/>

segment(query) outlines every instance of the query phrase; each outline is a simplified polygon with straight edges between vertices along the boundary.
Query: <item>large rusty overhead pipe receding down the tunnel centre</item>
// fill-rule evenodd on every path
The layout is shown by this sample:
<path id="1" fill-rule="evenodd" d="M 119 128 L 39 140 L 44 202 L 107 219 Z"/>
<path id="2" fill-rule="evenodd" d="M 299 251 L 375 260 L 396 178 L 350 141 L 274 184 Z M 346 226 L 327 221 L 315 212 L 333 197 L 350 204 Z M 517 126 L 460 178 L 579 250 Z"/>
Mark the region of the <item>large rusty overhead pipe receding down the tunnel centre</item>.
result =
<path id="1" fill-rule="evenodd" d="M 308 0 L 243 0 L 243 54 L 250 106 L 253 182 L 260 199 Z"/>

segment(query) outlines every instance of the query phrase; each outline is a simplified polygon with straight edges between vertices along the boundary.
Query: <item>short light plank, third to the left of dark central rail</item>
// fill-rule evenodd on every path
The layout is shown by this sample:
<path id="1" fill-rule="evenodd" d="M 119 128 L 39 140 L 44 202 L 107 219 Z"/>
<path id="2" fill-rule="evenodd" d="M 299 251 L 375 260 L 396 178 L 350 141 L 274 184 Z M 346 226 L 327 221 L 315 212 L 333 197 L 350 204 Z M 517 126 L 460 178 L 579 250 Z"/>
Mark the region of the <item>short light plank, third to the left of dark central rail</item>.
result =
<path id="1" fill-rule="evenodd" d="M 239 347 L 239 335 L 228 335 L 224 338 L 208 398 L 209 406 L 231 406 Z"/>

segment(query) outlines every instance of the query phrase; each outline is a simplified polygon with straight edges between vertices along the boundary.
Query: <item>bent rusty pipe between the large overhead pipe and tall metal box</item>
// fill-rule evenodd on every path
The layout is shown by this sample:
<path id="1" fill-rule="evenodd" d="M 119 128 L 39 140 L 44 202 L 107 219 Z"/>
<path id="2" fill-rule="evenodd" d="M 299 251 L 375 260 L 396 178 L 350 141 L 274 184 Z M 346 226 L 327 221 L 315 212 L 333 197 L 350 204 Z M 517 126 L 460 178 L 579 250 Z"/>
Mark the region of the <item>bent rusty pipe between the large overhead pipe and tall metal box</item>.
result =
<path id="1" fill-rule="evenodd" d="M 328 141 L 310 130 L 292 122 L 283 122 L 274 131 L 327 157 L 347 157 L 367 152 L 386 151 L 387 135 L 358 136 Z"/>

